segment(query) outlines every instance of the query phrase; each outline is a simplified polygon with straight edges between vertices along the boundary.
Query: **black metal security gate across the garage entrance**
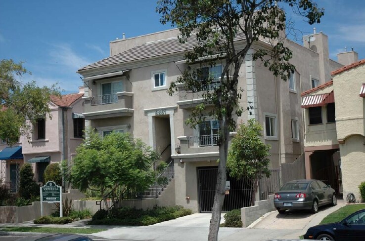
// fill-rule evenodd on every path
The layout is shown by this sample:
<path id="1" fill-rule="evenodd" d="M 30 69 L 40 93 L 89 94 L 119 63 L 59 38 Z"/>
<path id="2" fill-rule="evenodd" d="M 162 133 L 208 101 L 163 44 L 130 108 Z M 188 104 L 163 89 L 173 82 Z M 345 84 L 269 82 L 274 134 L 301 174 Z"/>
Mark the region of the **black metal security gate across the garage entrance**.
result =
<path id="1" fill-rule="evenodd" d="M 200 212 L 212 212 L 214 195 L 216 190 L 218 167 L 198 167 L 199 209 Z M 242 178 L 237 180 L 227 175 L 230 190 L 226 194 L 223 203 L 223 212 L 232 209 L 247 207 L 252 197 L 251 183 Z"/>

